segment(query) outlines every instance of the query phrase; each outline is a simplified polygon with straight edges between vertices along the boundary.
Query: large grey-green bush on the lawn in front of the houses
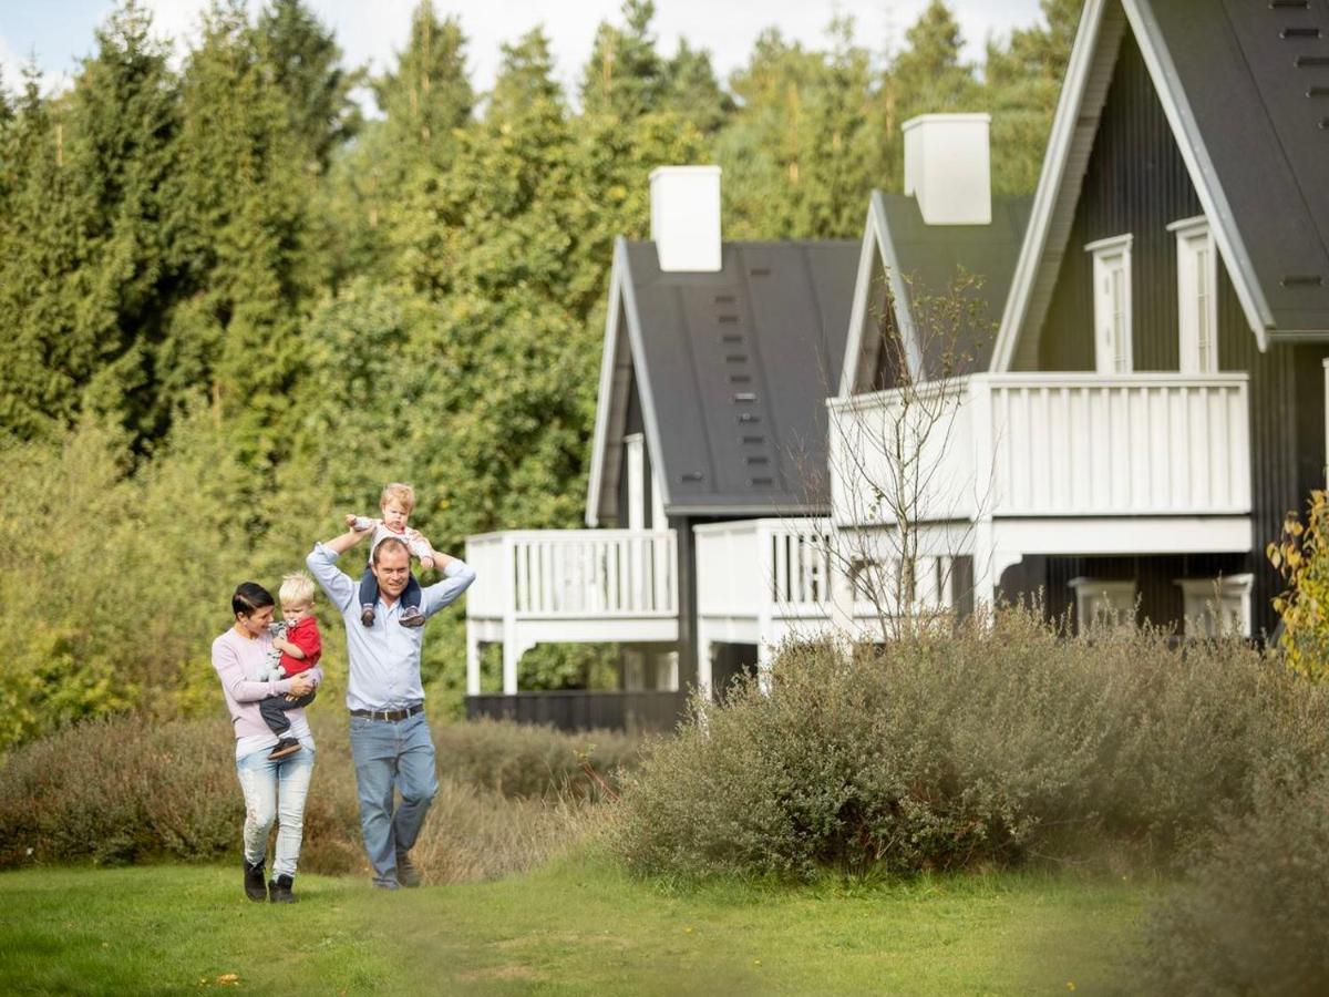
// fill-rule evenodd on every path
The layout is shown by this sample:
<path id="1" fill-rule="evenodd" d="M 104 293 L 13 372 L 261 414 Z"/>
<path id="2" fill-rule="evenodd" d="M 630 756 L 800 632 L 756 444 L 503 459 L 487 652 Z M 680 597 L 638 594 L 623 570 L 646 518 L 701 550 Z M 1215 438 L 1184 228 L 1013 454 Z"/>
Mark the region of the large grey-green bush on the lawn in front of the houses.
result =
<path id="1" fill-rule="evenodd" d="M 1022 610 L 876 654 L 791 646 L 626 779 L 637 869 L 811 875 L 1162 857 L 1325 746 L 1325 694 L 1240 642 L 1065 638 Z"/>

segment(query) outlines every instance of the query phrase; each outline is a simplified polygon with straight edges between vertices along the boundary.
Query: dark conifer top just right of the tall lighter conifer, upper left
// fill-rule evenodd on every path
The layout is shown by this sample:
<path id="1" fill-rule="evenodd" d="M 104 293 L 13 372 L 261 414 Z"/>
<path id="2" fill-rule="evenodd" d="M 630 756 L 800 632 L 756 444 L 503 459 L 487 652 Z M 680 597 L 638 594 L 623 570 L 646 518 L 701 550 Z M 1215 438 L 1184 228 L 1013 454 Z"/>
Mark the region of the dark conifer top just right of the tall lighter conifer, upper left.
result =
<path id="1" fill-rule="evenodd" d="M 351 100 L 360 70 L 342 68 L 342 49 L 304 0 L 270 0 L 258 19 L 258 45 L 267 72 L 286 96 L 290 130 L 319 171 L 361 125 Z"/>

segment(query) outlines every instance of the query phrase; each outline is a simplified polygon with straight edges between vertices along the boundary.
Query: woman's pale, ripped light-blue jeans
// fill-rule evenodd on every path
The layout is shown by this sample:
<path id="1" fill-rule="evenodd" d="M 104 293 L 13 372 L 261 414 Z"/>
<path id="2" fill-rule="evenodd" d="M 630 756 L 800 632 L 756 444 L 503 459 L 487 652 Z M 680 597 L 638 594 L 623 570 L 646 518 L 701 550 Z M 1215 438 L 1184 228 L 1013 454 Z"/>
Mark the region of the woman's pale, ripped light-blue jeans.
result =
<path id="1" fill-rule="evenodd" d="M 278 822 L 272 877 L 295 877 L 304 835 L 304 800 L 314 775 L 314 742 L 300 740 L 300 750 L 276 762 L 271 748 L 251 751 L 235 760 L 245 792 L 245 861 L 256 865 L 267 857 L 267 832 Z"/>

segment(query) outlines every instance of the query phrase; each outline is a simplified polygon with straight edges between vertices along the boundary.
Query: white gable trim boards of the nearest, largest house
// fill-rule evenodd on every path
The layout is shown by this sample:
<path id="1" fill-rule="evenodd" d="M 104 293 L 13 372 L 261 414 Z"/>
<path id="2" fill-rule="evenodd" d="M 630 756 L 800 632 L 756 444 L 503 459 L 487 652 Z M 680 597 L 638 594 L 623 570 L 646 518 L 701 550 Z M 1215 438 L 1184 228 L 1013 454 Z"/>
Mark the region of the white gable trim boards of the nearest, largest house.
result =
<path id="1" fill-rule="evenodd" d="M 1026 324 L 1041 322 L 1041 315 L 1031 315 L 1030 306 L 1035 279 L 1045 266 L 1059 263 L 1061 247 L 1055 247 L 1057 259 L 1049 254 L 1049 235 L 1053 227 L 1054 214 L 1069 211 L 1074 217 L 1075 202 L 1079 199 L 1079 181 L 1083 165 L 1076 162 L 1079 174 L 1074 177 L 1071 190 L 1067 174 L 1067 164 L 1071 153 L 1079 152 L 1087 162 L 1088 152 L 1092 148 L 1094 134 L 1098 130 L 1098 108 L 1091 117 L 1091 128 L 1079 129 L 1080 116 L 1086 98 L 1091 70 L 1104 66 L 1096 65 L 1099 49 L 1108 39 L 1104 37 L 1104 12 L 1111 5 L 1120 4 L 1126 13 L 1135 41 L 1140 48 L 1144 65 L 1154 82 L 1163 113 L 1167 117 L 1185 164 L 1191 183 L 1204 214 L 1213 222 L 1215 243 L 1232 278 L 1237 299 L 1255 332 L 1260 350 L 1268 348 L 1268 330 L 1273 327 L 1273 312 L 1264 298 L 1255 267 L 1247 253 L 1245 243 L 1237 231 L 1232 217 L 1231 205 L 1223 193 L 1213 170 L 1213 161 L 1204 146 L 1199 125 L 1191 113 L 1189 102 L 1181 90 L 1176 66 L 1166 45 L 1162 44 L 1162 33 L 1154 12 L 1148 7 L 1150 0 L 1088 0 L 1080 19 L 1079 32 L 1075 37 L 1075 48 L 1071 51 L 1070 65 L 1066 70 L 1066 84 L 1057 105 L 1057 114 L 1053 118 L 1053 130 L 1047 144 L 1047 157 L 1043 160 L 1043 171 L 1038 181 L 1038 193 L 1034 197 L 1034 209 L 1029 222 L 1029 231 L 1021 247 L 1019 259 L 1015 265 L 1015 275 L 1011 283 L 1011 294 L 1006 299 L 1006 310 L 1002 314 L 1001 331 L 997 335 L 997 344 L 993 350 L 993 371 L 1009 371 L 1015 360 L 1022 332 L 1027 332 Z M 1116 11 L 1114 9 L 1115 15 Z M 1112 45 L 1112 62 L 1116 60 L 1116 47 Z M 1111 66 L 1106 66 L 1108 78 Z M 1096 94 L 1095 94 L 1096 96 Z M 1104 90 L 1106 96 L 1106 90 Z M 1090 122 L 1086 122 L 1090 124 Z M 1078 134 L 1078 129 L 1087 134 Z M 1078 140 L 1078 141 L 1076 141 Z M 1079 158 L 1079 157 L 1076 157 Z M 1070 219 L 1065 219 L 1070 226 Z M 1049 277 L 1047 279 L 1053 279 Z M 1046 306 L 1046 303 L 1045 303 Z"/>

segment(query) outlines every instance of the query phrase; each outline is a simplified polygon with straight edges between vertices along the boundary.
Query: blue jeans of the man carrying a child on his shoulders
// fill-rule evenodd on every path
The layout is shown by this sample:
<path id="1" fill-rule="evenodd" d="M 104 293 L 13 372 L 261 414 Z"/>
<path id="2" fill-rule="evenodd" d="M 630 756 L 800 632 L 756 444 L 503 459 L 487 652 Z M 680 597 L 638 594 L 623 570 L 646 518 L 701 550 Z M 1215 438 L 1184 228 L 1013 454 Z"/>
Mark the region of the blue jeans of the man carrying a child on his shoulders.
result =
<path id="1" fill-rule="evenodd" d="M 404 720 L 352 717 L 351 758 L 360 792 L 360 833 L 373 865 L 373 881 L 396 887 L 397 855 L 415 845 L 429 803 L 439 792 L 425 714 Z M 401 794 L 395 814 L 393 790 Z"/>

